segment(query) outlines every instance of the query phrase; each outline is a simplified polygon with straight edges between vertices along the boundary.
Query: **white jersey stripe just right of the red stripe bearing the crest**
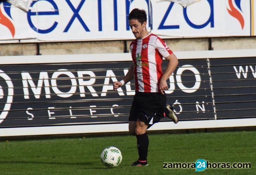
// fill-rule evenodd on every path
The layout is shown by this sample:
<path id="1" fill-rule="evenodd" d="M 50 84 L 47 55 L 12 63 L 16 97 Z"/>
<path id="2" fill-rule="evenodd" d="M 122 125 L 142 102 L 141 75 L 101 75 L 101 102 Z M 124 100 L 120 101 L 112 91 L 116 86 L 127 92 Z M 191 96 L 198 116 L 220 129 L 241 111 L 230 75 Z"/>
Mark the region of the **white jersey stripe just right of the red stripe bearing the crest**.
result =
<path id="1" fill-rule="evenodd" d="M 150 36 L 150 39 L 148 41 L 148 63 L 149 63 L 149 76 L 150 76 L 150 86 L 151 86 L 151 92 L 158 92 L 157 87 L 157 72 L 156 72 L 156 58 L 155 58 L 155 42 L 157 37 L 156 36 Z"/>

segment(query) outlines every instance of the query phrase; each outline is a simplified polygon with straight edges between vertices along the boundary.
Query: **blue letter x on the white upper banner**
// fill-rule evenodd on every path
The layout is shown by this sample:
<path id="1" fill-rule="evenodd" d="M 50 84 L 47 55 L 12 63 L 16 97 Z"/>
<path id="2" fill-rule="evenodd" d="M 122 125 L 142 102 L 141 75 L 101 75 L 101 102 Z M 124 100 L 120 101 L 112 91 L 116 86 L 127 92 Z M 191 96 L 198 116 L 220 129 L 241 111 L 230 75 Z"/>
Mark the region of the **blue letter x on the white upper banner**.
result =
<path id="1" fill-rule="evenodd" d="M 81 16 L 78 14 L 81 7 L 83 6 L 83 3 L 85 3 L 86 0 L 81 0 L 81 2 L 78 5 L 78 8 L 75 9 L 75 7 L 72 5 L 72 3 L 70 2 L 70 0 L 66 0 L 67 4 L 69 5 L 70 9 L 73 11 L 73 16 L 70 19 L 70 21 L 68 22 L 67 27 L 64 29 L 63 32 L 67 32 L 70 28 L 70 26 L 72 25 L 72 23 L 74 22 L 74 20 L 77 18 L 79 20 L 79 22 L 81 23 L 81 25 L 83 26 L 83 28 L 85 29 L 85 31 L 90 31 L 88 29 L 88 27 L 86 26 L 85 22 L 82 20 Z"/>

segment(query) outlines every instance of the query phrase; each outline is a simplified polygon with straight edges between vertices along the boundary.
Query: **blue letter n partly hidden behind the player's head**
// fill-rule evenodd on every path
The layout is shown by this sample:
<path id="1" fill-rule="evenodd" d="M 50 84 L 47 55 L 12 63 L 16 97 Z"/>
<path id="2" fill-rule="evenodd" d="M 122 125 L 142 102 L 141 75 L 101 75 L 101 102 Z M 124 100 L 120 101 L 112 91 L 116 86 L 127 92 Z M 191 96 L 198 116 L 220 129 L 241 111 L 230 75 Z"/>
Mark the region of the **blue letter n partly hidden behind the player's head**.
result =
<path id="1" fill-rule="evenodd" d="M 128 16 L 130 13 L 130 5 L 134 0 L 126 0 L 126 30 L 130 30 L 130 26 L 129 26 L 129 20 L 128 20 Z M 149 0 L 145 0 L 147 2 L 147 6 L 148 6 L 148 26 L 153 29 L 153 23 L 152 23 L 152 5 L 151 2 L 149 2 Z M 149 4 L 150 3 L 150 4 Z M 150 8 L 149 8 L 150 6 Z"/>

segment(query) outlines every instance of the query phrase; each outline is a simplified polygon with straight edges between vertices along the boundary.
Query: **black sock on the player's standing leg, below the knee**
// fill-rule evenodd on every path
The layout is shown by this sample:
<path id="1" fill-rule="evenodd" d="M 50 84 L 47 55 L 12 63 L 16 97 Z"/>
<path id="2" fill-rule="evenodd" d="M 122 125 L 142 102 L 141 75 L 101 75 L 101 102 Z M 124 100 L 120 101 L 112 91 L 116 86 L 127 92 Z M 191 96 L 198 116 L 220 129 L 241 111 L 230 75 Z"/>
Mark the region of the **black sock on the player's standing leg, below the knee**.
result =
<path id="1" fill-rule="evenodd" d="M 137 138 L 137 148 L 139 153 L 139 160 L 141 161 L 147 161 L 147 155 L 148 155 L 148 134 L 139 134 L 136 135 Z"/>

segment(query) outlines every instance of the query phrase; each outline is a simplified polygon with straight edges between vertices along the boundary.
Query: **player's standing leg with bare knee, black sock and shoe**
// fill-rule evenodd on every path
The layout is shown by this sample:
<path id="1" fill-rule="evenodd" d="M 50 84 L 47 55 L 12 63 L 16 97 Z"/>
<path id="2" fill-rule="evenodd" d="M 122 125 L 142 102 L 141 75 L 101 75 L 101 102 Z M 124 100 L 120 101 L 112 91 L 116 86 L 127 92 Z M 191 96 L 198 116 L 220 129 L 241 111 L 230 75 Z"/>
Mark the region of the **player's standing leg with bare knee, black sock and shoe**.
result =
<path id="1" fill-rule="evenodd" d="M 137 119 L 135 134 L 137 138 L 137 148 L 139 153 L 139 159 L 132 163 L 132 166 L 147 166 L 147 155 L 148 155 L 148 135 L 147 130 L 148 124 L 145 124 L 144 121 Z"/>

